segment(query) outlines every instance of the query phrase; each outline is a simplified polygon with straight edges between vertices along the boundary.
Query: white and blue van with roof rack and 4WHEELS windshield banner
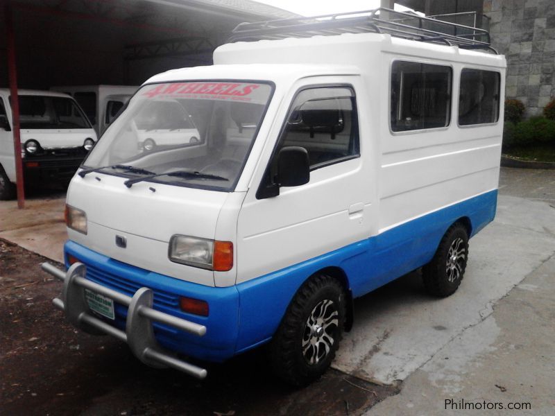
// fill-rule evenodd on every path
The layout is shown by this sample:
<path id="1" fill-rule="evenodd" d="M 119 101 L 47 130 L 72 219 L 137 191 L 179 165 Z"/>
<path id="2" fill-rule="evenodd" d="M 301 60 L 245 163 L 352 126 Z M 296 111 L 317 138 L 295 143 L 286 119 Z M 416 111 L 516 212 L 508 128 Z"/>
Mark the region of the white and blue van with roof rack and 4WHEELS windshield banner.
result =
<path id="1" fill-rule="evenodd" d="M 148 365 L 203 378 L 177 354 L 267 344 L 305 385 L 355 297 L 418 268 L 452 295 L 495 216 L 506 61 L 485 31 L 430 25 L 387 9 L 241 24 L 213 66 L 147 80 L 71 181 L 69 270 L 43 266 L 65 281 L 56 306 Z M 198 141 L 140 146 L 155 105 L 182 107 Z"/>

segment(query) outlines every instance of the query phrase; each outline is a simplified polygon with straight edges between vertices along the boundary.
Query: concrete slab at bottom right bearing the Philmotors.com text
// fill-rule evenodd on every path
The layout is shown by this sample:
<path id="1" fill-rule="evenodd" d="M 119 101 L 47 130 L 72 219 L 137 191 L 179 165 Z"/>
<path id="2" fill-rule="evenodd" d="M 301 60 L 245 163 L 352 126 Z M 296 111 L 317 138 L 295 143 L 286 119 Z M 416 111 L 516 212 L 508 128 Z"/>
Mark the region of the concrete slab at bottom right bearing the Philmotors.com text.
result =
<path id="1" fill-rule="evenodd" d="M 554 320 L 552 256 L 366 415 L 553 415 Z"/>

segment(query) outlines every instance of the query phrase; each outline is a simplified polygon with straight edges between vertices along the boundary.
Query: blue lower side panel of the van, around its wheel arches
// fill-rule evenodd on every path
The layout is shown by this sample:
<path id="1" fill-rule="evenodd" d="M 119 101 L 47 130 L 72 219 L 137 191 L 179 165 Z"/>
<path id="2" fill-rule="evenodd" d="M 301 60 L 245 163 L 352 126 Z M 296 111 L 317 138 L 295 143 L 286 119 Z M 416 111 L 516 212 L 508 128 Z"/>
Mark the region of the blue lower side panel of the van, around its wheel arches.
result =
<path id="1" fill-rule="evenodd" d="M 273 336 L 289 302 L 314 272 L 340 268 L 348 278 L 352 296 L 366 295 L 432 260 L 443 234 L 456 220 L 468 218 L 472 236 L 495 218 L 496 207 L 497 190 L 237 285 L 241 304 L 237 350 L 245 351 Z"/>

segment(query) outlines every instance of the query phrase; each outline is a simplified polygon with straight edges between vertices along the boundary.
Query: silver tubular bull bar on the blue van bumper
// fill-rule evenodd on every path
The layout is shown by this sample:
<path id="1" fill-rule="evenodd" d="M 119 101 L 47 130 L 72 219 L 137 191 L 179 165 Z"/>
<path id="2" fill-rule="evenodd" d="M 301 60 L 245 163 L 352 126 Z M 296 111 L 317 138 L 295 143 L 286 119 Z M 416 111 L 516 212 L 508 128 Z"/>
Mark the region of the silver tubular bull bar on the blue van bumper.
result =
<path id="1" fill-rule="evenodd" d="M 123 293 L 85 279 L 86 266 L 78 262 L 74 263 L 67 272 L 62 272 L 49 263 L 42 263 L 42 270 L 64 282 L 62 299 L 56 297 L 52 303 L 65 312 L 67 320 L 75 327 L 94 335 L 108 333 L 128 343 L 133 354 L 142 363 L 151 367 L 172 367 L 198 379 L 206 377 L 207 371 L 204 368 L 182 361 L 175 354 L 158 345 L 154 337 L 152 321 L 171 325 L 171 327 L 193 333 L 196 336 L 204 336 L 206 327 L 153 309 L 153 291 L 151 289 L 140 288 L 133 297 L 123 295 Z M 85 289 L 128 306 L 125 331 L 112 327 L 91 313 L 85 300 Z"/>

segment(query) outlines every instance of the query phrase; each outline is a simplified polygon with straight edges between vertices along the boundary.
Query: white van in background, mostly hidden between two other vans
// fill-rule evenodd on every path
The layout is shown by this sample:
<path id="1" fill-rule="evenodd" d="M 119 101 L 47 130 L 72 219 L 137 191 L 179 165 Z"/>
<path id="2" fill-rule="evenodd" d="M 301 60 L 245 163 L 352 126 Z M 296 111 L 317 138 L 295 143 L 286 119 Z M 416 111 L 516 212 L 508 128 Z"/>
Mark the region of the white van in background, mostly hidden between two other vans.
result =
<path id="1" fill-rule="evenodd" d="M 51 87 L 51 91 L 64 92 L 75 98 L 101 137 L 119 111 L 139 87 L 131 85 L 71 85 Z"/>

